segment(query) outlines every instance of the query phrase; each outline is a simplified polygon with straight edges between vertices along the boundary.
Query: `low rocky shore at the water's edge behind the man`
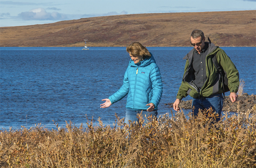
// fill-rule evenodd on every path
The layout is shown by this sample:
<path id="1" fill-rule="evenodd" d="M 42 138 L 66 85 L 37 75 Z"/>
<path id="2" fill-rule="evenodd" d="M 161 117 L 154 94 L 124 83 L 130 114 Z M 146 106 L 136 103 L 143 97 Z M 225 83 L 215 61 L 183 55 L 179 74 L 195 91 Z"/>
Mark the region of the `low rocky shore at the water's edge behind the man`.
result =
<path id="1" fill-rule="evenodd" d="M 227 93 L 226 93 L 227 95 Z M 173 103 L 167 103 L 169 107 L 173 107 Z M 180 102 L 180 108 L 183 109 L 191 109 L 192 100 Z M 256 95 L 248 95 L 247 93 L 238 96 L 238 100 L 231 103 L 230 97 L 225 96 L 223 109 L 222 111 L 231 111 L 231 112 L 246 112 L 247 110 L 251 110 L 252 108 L 256 108 Z"/>

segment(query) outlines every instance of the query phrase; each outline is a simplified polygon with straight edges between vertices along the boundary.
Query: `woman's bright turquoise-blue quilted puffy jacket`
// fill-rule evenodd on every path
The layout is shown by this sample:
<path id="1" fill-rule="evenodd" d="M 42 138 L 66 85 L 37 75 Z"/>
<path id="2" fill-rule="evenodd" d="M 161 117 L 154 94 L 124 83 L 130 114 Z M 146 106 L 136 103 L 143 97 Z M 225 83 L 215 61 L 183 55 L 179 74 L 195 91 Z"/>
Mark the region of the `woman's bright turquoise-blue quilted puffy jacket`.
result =
<path id="1" fill-rule="evenodd" d="M 122 87 L 109 96 L 109 99 L 113 104 L 128 94 L 126 108 L 146 110 L 146 104 L 153 103 L 157 110 L 162 93 L 160 70 L 151 54 L 150 58 L 146 58 L 140 64 L 134 64 L 134 61 L 130 60 Z"/>

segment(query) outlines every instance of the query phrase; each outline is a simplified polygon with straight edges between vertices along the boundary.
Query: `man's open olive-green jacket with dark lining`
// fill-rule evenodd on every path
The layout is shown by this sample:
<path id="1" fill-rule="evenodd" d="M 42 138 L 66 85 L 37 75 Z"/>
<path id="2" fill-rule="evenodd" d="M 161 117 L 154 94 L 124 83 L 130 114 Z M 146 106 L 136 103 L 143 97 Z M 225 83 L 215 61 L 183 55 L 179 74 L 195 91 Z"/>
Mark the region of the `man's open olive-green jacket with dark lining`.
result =
<path id="1" fill-rule="evenodd" d="M 206 75 L 207 80 L 204 83 L 201 90 L 199 90 L 193 80 L 195 80 L 194 70 L 192 67 L 193 56 L 196 50 L 193 48 L 183 59 L 186 59 L 186 65 L 184 70 L 184 75 L 182 83 L 180 85 L 179 91 L 176 98 L 182 99 L 188 95 L 193 98 L 198 98 L 199 95 L 202 97 L 208 97 L 217 93 L 223 93 L 222 83 L 220 74 L 217 71 L 217 68 L 212 62 L 212 57 L 216 54 L 218 64 L 223 67 L 223 70 L 227 72 L 228 78 L 228 87 L 230 92 L 237 93 L 239 87 L 239 72 L 236 69 L 236 66 L 227 56 L 227 54 L 220 49 L 218 46 L 215 46 L 212 43 L 209 43 L 209 49 L 207 50 L 206 56 Z"/>

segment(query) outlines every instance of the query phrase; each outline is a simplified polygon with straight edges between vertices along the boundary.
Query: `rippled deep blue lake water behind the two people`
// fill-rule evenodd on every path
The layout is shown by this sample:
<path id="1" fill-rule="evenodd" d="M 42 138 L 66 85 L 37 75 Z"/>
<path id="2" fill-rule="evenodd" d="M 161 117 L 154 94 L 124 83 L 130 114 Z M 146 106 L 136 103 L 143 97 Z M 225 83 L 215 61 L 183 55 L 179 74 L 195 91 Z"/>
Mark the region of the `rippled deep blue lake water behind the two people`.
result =
<path id="1" fill-rule="evenodd" d="M 125 101 L 101 109 L 122 86 L 129 62 L 125 47 L 0 47 L 0 129 L 33 127 L 54 122 L 85 125 L 86 116 L 112 125 L 114 114 L 125 117 Z M 163 80 L 158 114 L 170 113 L 164 105 L 175 101 L 185 60 L 192 47 L 148 47 Z M 256 47 L 222 47 L 244 79 L 244 92 L 255 94 Z M 189 100 L 191 97 L 185 98 Z M 52 121 L 53 120 L 53 121 Z M 97 122 L 96 122 L 97 123 Z"/>

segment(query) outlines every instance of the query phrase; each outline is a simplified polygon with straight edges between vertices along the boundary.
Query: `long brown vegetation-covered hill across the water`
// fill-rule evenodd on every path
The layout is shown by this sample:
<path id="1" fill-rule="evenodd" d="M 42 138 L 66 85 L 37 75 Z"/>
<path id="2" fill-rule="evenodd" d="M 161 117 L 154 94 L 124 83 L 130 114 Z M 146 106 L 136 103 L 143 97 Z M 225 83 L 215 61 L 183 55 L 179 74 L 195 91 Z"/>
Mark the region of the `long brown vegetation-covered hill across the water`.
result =
<path id="1" fill-rule="evenodd" d="M 256 10 L 128 14 L 0 27 L 0 46 L 189 46 L 201 29 L 218 46 L 256 46 Z"/>

